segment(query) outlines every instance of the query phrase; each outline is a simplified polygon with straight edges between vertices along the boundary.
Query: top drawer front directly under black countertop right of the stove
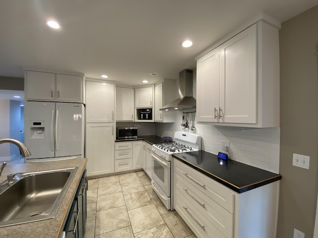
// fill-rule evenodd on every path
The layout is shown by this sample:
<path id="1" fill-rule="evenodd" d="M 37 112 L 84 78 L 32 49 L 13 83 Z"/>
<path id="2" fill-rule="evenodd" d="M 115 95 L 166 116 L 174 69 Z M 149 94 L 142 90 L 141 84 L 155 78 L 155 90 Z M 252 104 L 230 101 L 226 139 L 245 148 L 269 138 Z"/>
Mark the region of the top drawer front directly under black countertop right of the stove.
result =
<path id="1" fill-rule="evenodd" d="M 230 213 L 234 214 L 235 193 L 233 191 L 177 159 L 174 159 L 173 166 L 175 173 L 179 174 L 183 179 L 194 185 Z"/>

